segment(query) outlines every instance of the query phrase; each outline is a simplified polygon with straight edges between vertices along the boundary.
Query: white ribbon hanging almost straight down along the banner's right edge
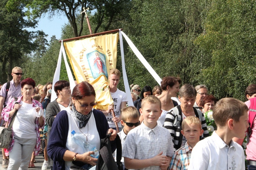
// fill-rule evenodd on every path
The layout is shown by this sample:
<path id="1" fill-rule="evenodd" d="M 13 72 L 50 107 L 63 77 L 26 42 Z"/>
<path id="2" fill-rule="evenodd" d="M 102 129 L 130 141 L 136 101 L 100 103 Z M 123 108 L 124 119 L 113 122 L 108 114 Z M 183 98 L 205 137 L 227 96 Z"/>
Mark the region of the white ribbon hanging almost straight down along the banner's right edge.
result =
<path id="1" fill-rule="evenodd" d="M 129 83 L 126 75 L 126 69 L 125 69 L 125 55 L 124 55 L 124 46 L 123 46 L 123 37 L 121 34 L 121 30 L 119 29 L 119 41 L 120 41 L 120 50 L 121 50 L 121 58 L 122 58 L 122 72 L 123 72 L 123 78 L 124 78 L 124 85 L 125 85 L 125 93 L 127 95 L 128 100 L 128 106 L 134 106 L 131 98 L 131 92 L 129 88 Z"/>

